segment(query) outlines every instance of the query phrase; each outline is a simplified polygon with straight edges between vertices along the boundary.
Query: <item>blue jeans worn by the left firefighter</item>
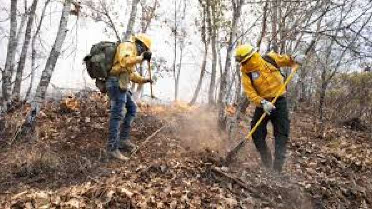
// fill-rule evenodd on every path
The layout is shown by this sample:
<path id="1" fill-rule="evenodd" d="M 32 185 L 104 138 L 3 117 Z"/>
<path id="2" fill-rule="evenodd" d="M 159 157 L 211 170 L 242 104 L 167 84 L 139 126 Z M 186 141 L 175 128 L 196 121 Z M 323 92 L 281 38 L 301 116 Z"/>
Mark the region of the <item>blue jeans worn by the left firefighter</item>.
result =
<path id="1" fill-rule="evenodd" d="M 106 88 L 111 106 L 107 149 L 112 151 L 119 148 L 120 141 L 129 139 L 130 126 L 136 115 L 136 104 L 128 90 L 120 89 L 117 77 L 109 77 Z M 124 107 L 127 110 L 125 116 L 123 115 Z M 123 123 L 120 127 L 122 120 Z"/>

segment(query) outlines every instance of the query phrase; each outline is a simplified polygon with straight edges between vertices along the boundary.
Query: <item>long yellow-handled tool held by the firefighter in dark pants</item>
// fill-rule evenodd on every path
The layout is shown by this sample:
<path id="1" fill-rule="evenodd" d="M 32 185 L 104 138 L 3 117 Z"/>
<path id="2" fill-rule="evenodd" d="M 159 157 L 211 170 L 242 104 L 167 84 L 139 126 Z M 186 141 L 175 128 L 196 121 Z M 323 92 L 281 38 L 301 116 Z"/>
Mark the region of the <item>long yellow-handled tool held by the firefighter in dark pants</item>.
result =
<path id="1" fill-rule="evenodd" d="M 277 99 L 282 94 L 282 92 L 284 91 L 284 89 L 286 88 L 286 86 L 288 85 L 288 83 L 292 80 L 293 76 L 296 74 L 296 71 L 299 69 L 299 67 L 300 67 L 300 65 L 298 65 L 298 64 L 296 64 L 293 67 L 292 72 L 288 76 L 288 78 L 286 79 L 286 81 L 284 82 L 284 85 L 282 86 L 282 88 L 279 89 L 279 91 L 277 92 L 276 96 L 271 101 L 273 104 L 277 101 Z M 264 112 L 264 114 L 262 114 L 261 118 L 257 121 L 257 123 L 255 124 L 255 126 L 253 126 L 253 128 L 248 133 L 248 135 L 242 141 L 240 141 L 239 144 L 234 149 L 232 149 L 230 152 L 228 152 L 228 154 L 226 156 L 226 159 L 225 159 L 225 164 L 229 163 L 231 161 L 231 159 L 233 158 L 233 156 L 238 152 L 238 150 L 245 144 L 245 142 L 247 142 L 250 139 L 250 137 L 256 131 L 257 127 L 260 125 L 260 123 L 265 118 L 265 116 L 266 116 L 266 112 Z"/>

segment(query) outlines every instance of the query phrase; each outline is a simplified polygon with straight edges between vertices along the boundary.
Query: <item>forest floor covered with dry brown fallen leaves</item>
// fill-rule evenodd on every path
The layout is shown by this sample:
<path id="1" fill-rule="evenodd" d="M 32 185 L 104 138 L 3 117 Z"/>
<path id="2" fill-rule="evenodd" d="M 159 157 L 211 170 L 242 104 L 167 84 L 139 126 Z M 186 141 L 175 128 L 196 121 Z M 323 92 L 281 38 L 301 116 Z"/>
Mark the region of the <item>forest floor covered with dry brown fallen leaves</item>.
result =
<path id="1" fill-rule="evenodd" d="M 372 208 L 371 133 L 328 122 L 319 137 L 311 110 L 297 110 L 277 174 L 260 167 L 252 142 L 232 164 L 219 164 L 238 140 L 217 130 L 215 111 L 139 104 L 135 143 L 165 127 L 130 161 L 105 161 L 107 106 L 99 94 L 82 99 L 77 111 L 47 103 L 35 134 L 11 144 L 27 108 L 8 115 L 0 208 Z M 251 115 L 252 107 L 239 124 L 242 136 Z M 272 140 L 269 129 L 271 149 Z"/>

